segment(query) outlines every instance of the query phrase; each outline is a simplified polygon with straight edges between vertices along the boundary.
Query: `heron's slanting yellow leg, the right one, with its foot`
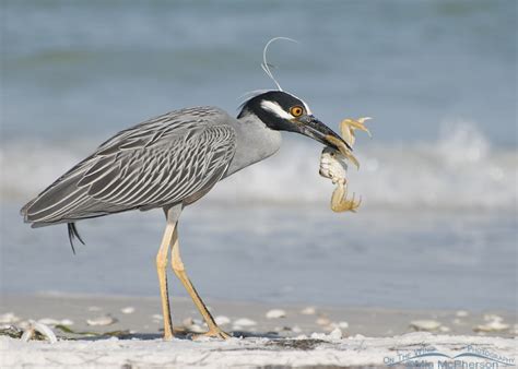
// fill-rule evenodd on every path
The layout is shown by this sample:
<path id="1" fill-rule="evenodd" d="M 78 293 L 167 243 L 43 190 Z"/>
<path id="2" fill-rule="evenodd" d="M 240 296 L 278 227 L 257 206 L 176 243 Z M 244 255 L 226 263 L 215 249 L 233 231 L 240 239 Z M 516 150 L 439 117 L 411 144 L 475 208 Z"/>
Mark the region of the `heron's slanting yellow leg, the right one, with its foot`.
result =
<path id="1" fill-rule="evenodd" d="M 210 336 L 210 337 L 219 337 L 219 338 L 229 338 L 231 335 L 223 332 L 217 324 L 214 321 L 214 318 L 212 318 L 211 313 L 207 309 L 207 306 L 203 303 L 201 300 L 200 295 L 195 289 L 195 286 L 192 286 L 192 283 L 190 282 L 189 277 L 187 276 L 187 272 L 184 265 L 184 262 L 181 261 L 180 258 L 180 246 L 178 243 L 178 233 L 175 229 L 174 235 L 173 235 L 173 242 L 172 242 L 172 266 L 173 271 L 175 272 L 176 276 L 180 279 L 181 284 L 186 288 L 187 293 L 189 296 L 192 298 L 192 301 L 195 302 L 196 307 L 200 311 L 201 316 L 203 317 L 207 325 L 209 326 L 209 332 L 201 334 L 202 336 Z"/>

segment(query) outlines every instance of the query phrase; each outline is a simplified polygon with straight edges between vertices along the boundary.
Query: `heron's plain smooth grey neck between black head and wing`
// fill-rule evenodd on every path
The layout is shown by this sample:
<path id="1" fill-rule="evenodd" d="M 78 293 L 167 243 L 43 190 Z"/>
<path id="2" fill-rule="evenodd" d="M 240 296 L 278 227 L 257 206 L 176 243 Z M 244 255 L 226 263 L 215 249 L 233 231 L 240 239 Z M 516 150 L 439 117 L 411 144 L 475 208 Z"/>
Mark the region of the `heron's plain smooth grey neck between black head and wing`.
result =
<path id="1" fill-rule="evenodd" d="M 257 116 L 236 119 L 236 154 L 227 176 L 275 154 L 281 147 L 281 132 L 268 128 Z"/>

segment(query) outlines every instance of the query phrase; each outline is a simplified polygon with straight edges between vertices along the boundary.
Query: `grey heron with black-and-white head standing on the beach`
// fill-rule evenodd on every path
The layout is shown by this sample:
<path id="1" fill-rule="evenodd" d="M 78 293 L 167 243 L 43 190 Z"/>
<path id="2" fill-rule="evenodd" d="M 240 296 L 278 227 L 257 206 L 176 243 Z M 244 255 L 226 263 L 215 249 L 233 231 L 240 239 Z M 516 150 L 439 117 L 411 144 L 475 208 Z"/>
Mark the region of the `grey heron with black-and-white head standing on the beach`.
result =
<path id="1" fill-rule="evenodd" d="M 282 91 L 248 99 L 237 118 L 216 107 L 175 110 L 117 133 L 22 209 L 33 227 L 66 223 L 73 248 L 74 223 L 130 210 L 162 207 L 166 215 L 156 255 L 164 337 L 173 337 L 166 266 L 172 266 L 205 320 L 207 335 L 227 337 L 187 277 L 177 236 L 181 210 L 215 183 L 274 154 L 280 131 L 297 132 L 337 148 L 337 133 L 306 103 Z M 350 147 L 349 147 L 350 148 Z"/>

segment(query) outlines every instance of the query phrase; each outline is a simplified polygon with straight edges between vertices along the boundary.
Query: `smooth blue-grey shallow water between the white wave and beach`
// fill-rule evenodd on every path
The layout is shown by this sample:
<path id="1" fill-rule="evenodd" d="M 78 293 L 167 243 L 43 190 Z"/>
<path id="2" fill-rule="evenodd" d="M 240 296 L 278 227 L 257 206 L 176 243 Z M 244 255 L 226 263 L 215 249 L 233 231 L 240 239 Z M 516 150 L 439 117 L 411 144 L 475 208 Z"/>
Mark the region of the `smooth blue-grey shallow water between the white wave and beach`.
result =
<path id="1" fill-rule="evenodd" d="M 3 207 L 1 291 L 157 296 L 161 211 L 30 229 Z M 404 309 L 516 310 L 509 212 L 362 210 L 200 202 L 180 219 L 183 260 L 203 297 Z M 169 271 L 172 296 L 186 296 Z"/>

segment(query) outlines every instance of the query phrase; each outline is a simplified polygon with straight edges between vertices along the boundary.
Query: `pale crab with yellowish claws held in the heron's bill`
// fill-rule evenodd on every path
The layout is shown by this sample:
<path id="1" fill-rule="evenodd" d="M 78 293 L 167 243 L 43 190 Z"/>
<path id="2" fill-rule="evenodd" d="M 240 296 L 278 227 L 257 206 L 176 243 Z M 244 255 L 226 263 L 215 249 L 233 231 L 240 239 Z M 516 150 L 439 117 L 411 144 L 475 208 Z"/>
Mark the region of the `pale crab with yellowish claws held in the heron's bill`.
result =
<path id="1" fill-rule="evenodd" d="M 351 146 L 355 142 L 355 130 L 366 132 L 370 136 L 370 132 L 365 127 L 365 121 L 370 119 L 369 117 L 358 119 L 344 119 L 340 122 L 340 131 L 343 140 Z M 357 201 L 355 194 L 351 199 L 348 199 L 348 163 L 350 160 L 357 168 L 360 163 L 351 153 L 351 151 L 339 140 L 328 136 L 328 140 L 333 142 L 339 150 L 331 147 L 325 147 L 320 155 L 320 176 L 331 179 L 333 184 L 337 184 L 332 197 L 331 197 L 331 210 L 337 213 L 341 212 L 356 212 L 362 203 L 362 198 Z"/>

